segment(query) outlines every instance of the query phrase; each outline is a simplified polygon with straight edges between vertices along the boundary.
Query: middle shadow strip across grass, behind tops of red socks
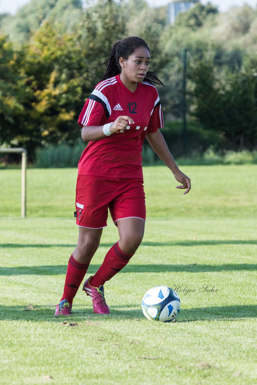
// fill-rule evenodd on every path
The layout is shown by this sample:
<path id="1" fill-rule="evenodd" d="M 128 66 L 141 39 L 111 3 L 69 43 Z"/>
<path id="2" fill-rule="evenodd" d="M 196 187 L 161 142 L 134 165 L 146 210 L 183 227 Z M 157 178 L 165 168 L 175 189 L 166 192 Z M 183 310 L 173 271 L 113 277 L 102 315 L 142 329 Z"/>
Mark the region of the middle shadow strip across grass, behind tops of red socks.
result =
<path id="1" fill-rule="evenodd" d="M 94 274 L 99 269 L 99 264 L 91 264 L 87 273 Z M 168 273 L 173 271 L 186 271 L 191 273 L 204 271 L 252 271 L 257 269 L 257 264 L 239 263 L 239 264 L 128 264 L 120 273 Z M 53 266 L 16 266 L 1 267 L 0 276 L 6 275 L 60 275 L 66 274 L 67 264 Z M 119 274 L 120 274 L 119 273 Z"/>

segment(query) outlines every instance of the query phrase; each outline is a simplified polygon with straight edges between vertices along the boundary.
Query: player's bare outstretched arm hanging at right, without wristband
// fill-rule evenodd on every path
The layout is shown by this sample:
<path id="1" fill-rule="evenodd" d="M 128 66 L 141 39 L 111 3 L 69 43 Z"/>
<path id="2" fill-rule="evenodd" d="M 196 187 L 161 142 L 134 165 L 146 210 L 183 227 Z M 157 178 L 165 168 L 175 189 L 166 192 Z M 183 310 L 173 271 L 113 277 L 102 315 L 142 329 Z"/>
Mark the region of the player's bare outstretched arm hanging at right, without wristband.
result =
<path id="1" fill-rule="evenodd" d="M 153 151 L 156 152 L 158 157 L 166 164 L 166 166 L 173 172 L 176 181 L 181 183 L 181 186 L 176 186 L 177 189 L 186 189 L 184 194 L 187 194 L 191 189 L 191 181 L 188 176 L 183 174 L 176 165 L 173 156 L 171 155 L 168 146 L 162 136 L 160 130 L 155 132 L 148 132 L 146 138 L 152 147 Z"/>

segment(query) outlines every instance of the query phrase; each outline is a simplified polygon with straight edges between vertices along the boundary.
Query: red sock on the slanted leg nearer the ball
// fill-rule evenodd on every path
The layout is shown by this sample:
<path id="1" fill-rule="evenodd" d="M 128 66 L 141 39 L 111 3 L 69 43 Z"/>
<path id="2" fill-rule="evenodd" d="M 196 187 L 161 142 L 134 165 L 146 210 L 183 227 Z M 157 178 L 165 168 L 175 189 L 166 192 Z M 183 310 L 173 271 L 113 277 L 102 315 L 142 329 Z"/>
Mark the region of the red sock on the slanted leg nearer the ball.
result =
<path id="1" fill-rule="evenodd" d="M 96 274 L 91 278 L 90 285 L 99 287 L 109 281 L 121 269 L 126 266 L 129 259 L 134 254 L 126 254 L 119 248 L 118 242 L 115 243 L 106 254 L 103 263 L 97 270 Z"/>

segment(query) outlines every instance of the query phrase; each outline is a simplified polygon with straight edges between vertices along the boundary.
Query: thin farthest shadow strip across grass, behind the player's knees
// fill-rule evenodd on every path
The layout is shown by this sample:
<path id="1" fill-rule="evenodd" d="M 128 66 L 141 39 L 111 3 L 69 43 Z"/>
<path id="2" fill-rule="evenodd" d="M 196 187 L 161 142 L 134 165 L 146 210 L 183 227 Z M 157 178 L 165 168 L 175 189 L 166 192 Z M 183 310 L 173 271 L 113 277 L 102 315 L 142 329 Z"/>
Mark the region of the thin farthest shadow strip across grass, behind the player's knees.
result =
<path id="1" fill-rule="evenodd" d="M 215 246 L 220 244 L 256 244 L 256 239 L 233 239 L 233 240 L 202 240 L 198 241 L 197 239 L 193 241 L 170 241 L 170 242 L 151 242 L 143 241 L 141 246 Z M 99 247 L 111 247 L 113 243 L 100 243 Z M 2 243 L 0 244 L 1 248 L 51 248 L 51 247 L 69 247 L 75 248 L 76 244 L 22 244 L 22 243 Z"/>

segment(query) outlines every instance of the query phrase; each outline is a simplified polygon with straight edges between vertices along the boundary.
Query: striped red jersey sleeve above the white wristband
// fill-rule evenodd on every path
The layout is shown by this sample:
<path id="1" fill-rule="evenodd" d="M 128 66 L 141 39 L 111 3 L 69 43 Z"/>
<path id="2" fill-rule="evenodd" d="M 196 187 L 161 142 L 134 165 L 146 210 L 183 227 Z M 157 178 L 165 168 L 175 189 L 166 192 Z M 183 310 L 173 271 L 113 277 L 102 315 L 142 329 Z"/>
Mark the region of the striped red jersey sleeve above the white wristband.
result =
<path id="1" fill-rule="evenodd" d="M 104 106 L 101 102 L 89 97 L 79 115 L 79 126 L 100 126 L 102 117 L 105 115 Z"/>

